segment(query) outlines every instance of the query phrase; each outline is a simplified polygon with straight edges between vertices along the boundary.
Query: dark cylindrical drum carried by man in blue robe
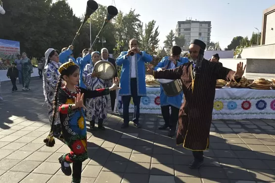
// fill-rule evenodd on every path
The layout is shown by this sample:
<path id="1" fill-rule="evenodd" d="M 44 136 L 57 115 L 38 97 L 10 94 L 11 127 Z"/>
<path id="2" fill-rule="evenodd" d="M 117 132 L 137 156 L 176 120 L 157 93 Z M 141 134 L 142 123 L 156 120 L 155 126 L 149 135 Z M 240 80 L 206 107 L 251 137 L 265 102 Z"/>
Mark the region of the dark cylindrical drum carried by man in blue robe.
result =
<path id="1" fill-rule="evenodd" d="M 177 96 L 183 91 L 181 80 L 157 79 L 167 96 Z"/>

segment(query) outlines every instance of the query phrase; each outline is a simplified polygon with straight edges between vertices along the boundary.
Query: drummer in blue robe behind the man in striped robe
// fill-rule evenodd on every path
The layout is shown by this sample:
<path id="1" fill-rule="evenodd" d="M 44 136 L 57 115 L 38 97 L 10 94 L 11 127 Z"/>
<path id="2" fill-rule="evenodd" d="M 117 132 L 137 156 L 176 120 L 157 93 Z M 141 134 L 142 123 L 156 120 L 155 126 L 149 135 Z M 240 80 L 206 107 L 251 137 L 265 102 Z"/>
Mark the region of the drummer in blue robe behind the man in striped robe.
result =
<path id="1" fill-rule="evenodd" d="M 180 46 L 173 46 L 171 48 L 171 56 L 165 56 L 154 68 L 157 70 L 174 69 L 188 62 L 188 59 L 181 57 L 182 48 Z M 165 124 L 159 127 L 159 130 L 165 130 L 169 127 L 169 137 L 176 134 L 177 123 L 179 119 L 179 112 L 182 105 L 183 92 L 177 96 L 167 96 L 160 86 L 160 106 L 161 113 Z M 171 107 L 171 114 L 170 108 Z"/>

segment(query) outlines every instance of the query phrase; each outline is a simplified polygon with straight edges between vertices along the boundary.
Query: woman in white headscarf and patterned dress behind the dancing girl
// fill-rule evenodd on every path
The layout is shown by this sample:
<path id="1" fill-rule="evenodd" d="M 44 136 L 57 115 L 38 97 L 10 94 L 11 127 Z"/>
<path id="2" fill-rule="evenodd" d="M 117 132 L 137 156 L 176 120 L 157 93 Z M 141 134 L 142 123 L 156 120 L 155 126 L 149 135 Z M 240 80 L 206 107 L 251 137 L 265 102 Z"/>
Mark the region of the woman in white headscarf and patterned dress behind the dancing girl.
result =
<path id="1" fill-rule="evenodd" d="M 48 106 L 48 117 L 49 124 L 52 124 L 52 114 L 53 114 L 53 101 L 56 91 L 56 86 L 60 77 L 60 73 L 58 72 L 58 68 L 61 63 L 59 63 L 58 53 L 53 49 L 49 48 L 45 52 L 46 63 L 43 71 L 43 89 L 45 95 L 45 102 L 47 102 Z M 59 119 L 58 110 L 56 112 L 56 118 L 54 120 L 53 126 L 53 136 L 59 137 L 61 135 L 61 125 Z"/>

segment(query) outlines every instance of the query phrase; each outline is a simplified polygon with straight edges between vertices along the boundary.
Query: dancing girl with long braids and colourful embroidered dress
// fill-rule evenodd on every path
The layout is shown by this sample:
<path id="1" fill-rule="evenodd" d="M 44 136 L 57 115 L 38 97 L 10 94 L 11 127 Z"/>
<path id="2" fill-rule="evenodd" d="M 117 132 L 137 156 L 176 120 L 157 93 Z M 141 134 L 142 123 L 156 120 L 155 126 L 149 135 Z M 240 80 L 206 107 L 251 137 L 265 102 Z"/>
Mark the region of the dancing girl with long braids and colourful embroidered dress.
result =
<path id="1" fill-rule="evenodd" d="M 88 91 L 76 87 L 79 82 L 79 67 L 74 62 L 62 64 L 58 71 L 60 78 L 55 91 L 52 118 L 54 121 L 56 110 L 58 110 L 62 135 L 64 141 L 71 149 L 71 152 L 61 155 L 58 160 L 61 164 L 62 172 L 67 176 L 72 174 L 70 163 L 73 163 L 72 183 L 80 183 L 82 162 L 88 158 L 86 121 L 83 110 L 83 108 L 86 107 L 83 101 L 85 101 L 86 98 L 107 95 L 109 91 L 118 89 L 119 80 L 116 78 L 110 88 Z M 61 86 L 62 81 L 65 82 L 64 86 Z M 52 129 L 44 142 L 47 146 L 54 145 Z"/>

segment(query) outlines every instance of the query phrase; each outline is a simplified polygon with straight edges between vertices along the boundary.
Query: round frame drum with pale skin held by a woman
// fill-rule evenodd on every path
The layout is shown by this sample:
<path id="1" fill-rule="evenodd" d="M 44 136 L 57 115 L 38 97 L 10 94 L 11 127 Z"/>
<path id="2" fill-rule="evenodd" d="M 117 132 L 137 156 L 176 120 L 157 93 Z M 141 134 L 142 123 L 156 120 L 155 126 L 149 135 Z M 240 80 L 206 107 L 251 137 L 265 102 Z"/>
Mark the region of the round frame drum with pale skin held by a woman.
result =
<path id="1" fill-rule="evenodd" d="M 102 80 L 113 79 L 116 74 L 115 66 L 106 60 L 100 60 L 94 64 L 94 72 L 99 72 Z"/>

